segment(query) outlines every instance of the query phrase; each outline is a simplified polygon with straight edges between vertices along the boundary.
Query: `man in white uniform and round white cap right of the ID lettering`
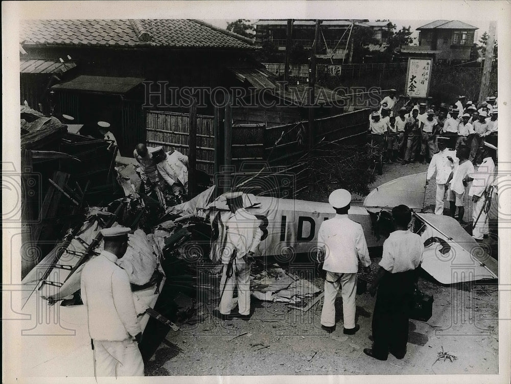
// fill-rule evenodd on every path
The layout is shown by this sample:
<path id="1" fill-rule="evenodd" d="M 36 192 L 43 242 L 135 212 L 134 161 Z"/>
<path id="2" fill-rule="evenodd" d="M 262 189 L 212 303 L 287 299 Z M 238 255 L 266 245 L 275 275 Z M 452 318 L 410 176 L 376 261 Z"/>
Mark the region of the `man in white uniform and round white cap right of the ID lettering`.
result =
<path id="1" fill-rule="evenodd" d="M 334 190 L 328 199 L 336 211 L 335 217 L 323 221 L 318 232 L 318 258 L 324 255 L 324 303 L 321 310 L 321 328 L 329 333 L 335 329 L 335 298 L 339 287 L 342 295 L 344 334 L 360 329 L 355 324 L 355 298 L 359 260 L 366 272 L 370 271 L 369 251 L 362 226 L 348 217 L 351 194 L 346 189 Z"/>

